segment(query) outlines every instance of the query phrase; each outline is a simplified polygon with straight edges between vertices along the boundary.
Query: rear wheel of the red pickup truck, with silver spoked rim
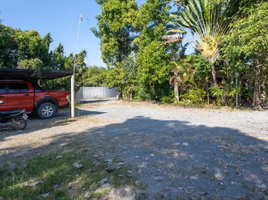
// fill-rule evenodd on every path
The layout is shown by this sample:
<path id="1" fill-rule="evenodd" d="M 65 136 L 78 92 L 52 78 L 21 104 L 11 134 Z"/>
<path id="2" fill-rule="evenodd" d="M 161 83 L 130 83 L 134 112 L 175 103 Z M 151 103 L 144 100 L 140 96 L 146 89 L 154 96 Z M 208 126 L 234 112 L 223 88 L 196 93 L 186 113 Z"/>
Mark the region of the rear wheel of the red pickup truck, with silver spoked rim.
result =
<path id="1" fill-rule="evenodd" d="M 56 106 L 53 103 L 41 103 L 37 108 L 37 115 L 41 119 L 49 119 L 55 116 L 57 112 Z"/>

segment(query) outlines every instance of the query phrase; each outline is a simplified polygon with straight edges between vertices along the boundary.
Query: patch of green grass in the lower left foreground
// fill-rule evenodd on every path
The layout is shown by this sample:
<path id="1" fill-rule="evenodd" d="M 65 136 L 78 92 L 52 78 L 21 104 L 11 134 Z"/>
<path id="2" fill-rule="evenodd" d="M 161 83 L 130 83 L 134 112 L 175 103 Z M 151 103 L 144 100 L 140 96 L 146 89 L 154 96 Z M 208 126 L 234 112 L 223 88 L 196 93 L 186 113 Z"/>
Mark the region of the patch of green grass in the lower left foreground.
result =
<path id="1" fill-rule="evenodd" d="M 107 172 L 104 163 L 94 164 L 93 160 L 82 155 L 82 151 L 63 152 L 61 159 L 50 153 L 27 159 L 26 167 L 17 167 L 8 172 L 7 167 L 0 169 L 0 197 L 8 199 L 83 199 L 84 193 L 92 192 L 93 197 L 102 197 L 109 193 L 110 187 L 100 188 L 100 180 L 108 178 L 113 187 L 133 185 L 134 178 L 122 178 L 124 169 Z M 86 158 L 83 158 L 86 157 Z M 77 169 L 73 163 L 82 164 Z M 92 169 L 93 171 L 90 171 Z M 34 184 L 40 181 L 38 184 Z M 40 195 L 50 193 L 47 197 Z"/>

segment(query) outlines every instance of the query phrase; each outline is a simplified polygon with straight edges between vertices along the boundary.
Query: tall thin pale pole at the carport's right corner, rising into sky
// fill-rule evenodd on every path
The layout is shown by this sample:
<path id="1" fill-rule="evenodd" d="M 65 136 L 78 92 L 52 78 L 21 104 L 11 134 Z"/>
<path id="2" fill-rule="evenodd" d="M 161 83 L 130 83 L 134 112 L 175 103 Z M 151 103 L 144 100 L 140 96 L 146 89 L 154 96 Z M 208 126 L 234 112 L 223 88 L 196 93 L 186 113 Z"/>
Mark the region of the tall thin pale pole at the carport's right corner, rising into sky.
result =
<path id="1" fill-rule="evenodd" d="M 77 53 L 77 42 L 79 38 L 79 29 L 81 21 L 83 21 L 84 17 L 83 14 L 80 13 L 79 16 L 79 23 L 78 23 L 78 30 L 77 30 L 77 38 L 76 38 L 76 45 L 75 45 L 75 53 L 74 53 L 74 66 L 73 66 L 73 75 L 71 77 L 71 117 L 75 117 L 75 67 L 76 67 L 76 53 Z"/>

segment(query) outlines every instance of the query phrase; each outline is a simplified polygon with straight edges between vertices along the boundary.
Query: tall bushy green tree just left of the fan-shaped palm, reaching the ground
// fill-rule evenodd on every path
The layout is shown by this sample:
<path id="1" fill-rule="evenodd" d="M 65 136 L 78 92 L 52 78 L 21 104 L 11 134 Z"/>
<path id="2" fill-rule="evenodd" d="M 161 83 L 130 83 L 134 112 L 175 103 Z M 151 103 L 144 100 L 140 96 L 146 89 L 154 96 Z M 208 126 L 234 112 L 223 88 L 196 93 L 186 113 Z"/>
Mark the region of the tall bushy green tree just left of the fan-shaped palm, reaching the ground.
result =
<path id="1" fill-rule="evenodd" d="M 162 36 L 168 30 L 170 0 L 148 0 L 139 9 L 137 28 L 139 35 L 133 45 L 138 46 L 135 55 L 137 66 L 136 98 L 160 100 L 170 93 L 171 70 L 169 45 L 162 45 Z M 174 51 L 176 51 L 174 47 Z"/>

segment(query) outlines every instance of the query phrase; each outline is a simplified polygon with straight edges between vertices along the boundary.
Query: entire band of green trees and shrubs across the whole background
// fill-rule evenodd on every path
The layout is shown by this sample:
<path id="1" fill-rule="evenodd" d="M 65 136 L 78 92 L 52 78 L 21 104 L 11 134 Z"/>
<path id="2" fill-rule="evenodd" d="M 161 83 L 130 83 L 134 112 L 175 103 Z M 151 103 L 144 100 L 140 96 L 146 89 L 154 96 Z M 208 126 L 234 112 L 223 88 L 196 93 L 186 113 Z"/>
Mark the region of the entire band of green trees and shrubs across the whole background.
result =
<path id="1" fill-rule="evenodd" d="M 91 30 L 107 68 L 87 67 L 86 52 L 51 51 L 50 34 L 0 25 L 0 67 L 71 70 L 77 85 L 119 87 L 119 97 L 186 105 L 267 103 L 268 2 L 262 0 L 96 0 Z M 192 38 L 192 42 L 182 42 Z M 187 55 L 192 45 L 195 52 Z M 69 79 L 44 81 L 69 88 Z"/>

